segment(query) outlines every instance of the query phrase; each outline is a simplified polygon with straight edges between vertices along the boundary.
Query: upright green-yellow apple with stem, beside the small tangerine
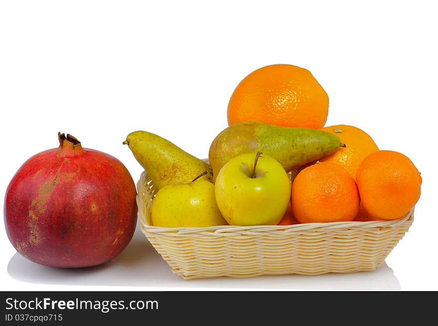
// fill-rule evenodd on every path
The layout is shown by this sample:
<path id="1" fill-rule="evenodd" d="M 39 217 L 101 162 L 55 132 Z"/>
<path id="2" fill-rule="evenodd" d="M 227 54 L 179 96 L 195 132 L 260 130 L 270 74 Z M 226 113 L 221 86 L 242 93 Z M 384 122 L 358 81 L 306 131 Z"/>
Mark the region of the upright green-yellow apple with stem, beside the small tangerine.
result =
<path id="1" fill-rule="evenodd" d="M 277 160 L 251 152 L 220 169 L 215 191 L 219 210 L 230 225 L 275 225 L 289 205 L 291 185 Z"/>

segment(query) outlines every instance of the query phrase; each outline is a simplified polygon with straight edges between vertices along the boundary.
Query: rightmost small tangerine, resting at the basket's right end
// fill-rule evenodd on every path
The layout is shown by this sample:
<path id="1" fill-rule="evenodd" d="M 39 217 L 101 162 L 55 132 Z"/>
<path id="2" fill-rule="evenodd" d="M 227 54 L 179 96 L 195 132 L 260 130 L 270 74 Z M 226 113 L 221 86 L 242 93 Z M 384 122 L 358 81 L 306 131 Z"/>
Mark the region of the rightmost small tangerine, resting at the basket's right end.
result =
<path id="1" fill-rule="evenodd" d="M 363 208 L 372 219 L 403 217 L 420 199 L 420 172 L 399 152 L 369 154 L 360 163 L 356 180 Z"/>

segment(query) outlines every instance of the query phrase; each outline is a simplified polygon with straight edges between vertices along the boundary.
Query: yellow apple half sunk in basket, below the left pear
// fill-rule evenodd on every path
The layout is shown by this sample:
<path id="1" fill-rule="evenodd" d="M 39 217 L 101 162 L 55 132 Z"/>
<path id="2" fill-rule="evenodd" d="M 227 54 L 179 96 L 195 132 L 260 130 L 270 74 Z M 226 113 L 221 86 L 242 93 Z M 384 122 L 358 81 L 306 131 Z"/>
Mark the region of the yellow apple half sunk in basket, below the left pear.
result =
<path id="1" fill-rule="evenodd" d="M 152 225 L 164 227 L 227 225 L 216 204 L 214 184 L 199 178 L 159 190 L 152 201 L 151 220 Z"/>

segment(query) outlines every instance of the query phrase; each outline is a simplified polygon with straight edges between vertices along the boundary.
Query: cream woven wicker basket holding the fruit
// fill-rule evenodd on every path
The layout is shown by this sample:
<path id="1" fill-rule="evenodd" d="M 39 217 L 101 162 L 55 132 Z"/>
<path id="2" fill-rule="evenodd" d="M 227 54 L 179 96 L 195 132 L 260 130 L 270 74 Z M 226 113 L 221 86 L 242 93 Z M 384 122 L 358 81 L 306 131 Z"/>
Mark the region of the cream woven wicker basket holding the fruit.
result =
<path id="1" fill-rule="evenodd" d="M 184 279 L 374 270 L 414 221 L 413 208 L 390 221 L 160 227 L 151 225 L 156 188 L 145 171 L 137 193 L 141 231 Z"/>

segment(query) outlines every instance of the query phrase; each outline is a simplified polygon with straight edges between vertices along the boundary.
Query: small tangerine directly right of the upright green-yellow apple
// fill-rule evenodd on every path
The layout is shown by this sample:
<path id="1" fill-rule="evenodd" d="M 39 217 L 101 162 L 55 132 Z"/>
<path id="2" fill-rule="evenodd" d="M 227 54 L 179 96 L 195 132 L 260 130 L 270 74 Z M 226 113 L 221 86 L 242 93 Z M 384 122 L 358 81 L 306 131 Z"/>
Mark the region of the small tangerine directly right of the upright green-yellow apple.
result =
<path id="1" fill-rule="evenodd" d="M 359 210 L 353 177 L 335 163 L 317 163 L 292 183 L 292 212 L 300 223 L 350 221 Z"/>

